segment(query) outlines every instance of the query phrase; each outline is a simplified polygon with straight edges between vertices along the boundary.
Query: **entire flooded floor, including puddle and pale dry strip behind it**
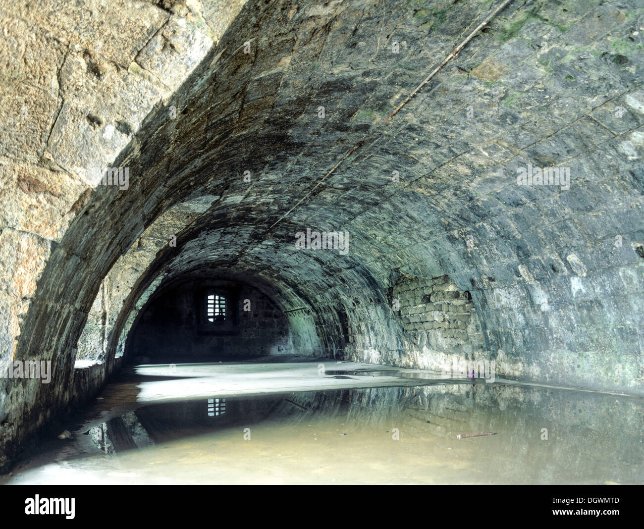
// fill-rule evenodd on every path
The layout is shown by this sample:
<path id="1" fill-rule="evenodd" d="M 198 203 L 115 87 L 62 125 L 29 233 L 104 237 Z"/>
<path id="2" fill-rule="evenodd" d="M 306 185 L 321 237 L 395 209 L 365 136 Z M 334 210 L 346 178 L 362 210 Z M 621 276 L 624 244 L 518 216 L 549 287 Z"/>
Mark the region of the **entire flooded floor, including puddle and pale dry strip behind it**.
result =
<path id="1" fill-rule="evenodd" d="M 0 483 L 644 483 L 641 396 L 328 359 L 136 366 L 64 429 Z"/>

